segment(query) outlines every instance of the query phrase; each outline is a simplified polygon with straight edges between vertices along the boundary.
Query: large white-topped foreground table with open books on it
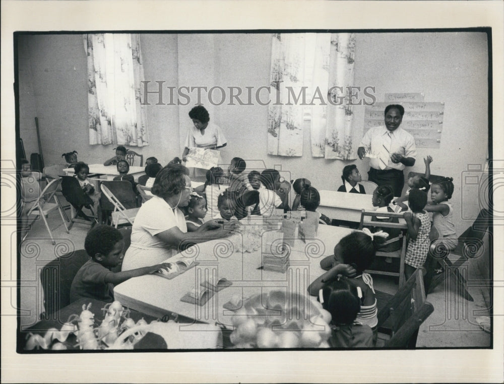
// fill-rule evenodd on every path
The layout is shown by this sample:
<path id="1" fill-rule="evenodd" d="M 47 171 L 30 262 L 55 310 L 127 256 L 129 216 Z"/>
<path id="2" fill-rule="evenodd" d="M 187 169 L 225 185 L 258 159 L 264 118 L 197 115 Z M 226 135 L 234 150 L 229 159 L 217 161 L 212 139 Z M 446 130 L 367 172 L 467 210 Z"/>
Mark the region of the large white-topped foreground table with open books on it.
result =
<path id="1" fill-rule="evenodd" d="M 114 296 L 123 305 L 153 316 L 177 313 L 198 321 L 231 326 L 233 312 L 224 309 L 223 304 L 234 295 L 248 298 L 272 290 L 284 290 L 308 296 L 308 285 L 324 273 L 320 261 L 333 254 L 334 246 L 351 231 L 320 225 L 316 238 L 306 243 L 296 239 L 286 273 L 261 269 L 260 249 L 251 253 L 235 252 L 225 238 L 207 241 L 182 252 L 197 255 L 197 265 L 192 269 L 171 280 L 157 275 L 129 279 L 114 288 Z M 205 280 L 216 282 L 221 278 L 231 281 L 232 285 L 215 293 L 203 306 L 180 301 Z"/>

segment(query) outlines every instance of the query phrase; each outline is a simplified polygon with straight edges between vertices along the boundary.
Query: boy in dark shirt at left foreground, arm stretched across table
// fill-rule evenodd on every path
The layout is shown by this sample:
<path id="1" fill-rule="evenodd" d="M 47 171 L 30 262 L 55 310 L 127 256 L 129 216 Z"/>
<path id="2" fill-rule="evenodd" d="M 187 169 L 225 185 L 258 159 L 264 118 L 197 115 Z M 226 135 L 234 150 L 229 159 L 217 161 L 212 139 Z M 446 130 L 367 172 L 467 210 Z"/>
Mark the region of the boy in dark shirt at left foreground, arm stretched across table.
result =
<path id="1" fill-rule="evenodd" d="M 108 225 L 92 228 L 86 235 L 84 248 L 91 260 L 88 260 L 74 277 L 70 289 L 71 302 L 83 297 L 112 302 L 114 285 L 171 266 L 170 263 L 163 263 L 130 271 L 112 272 L 113 267 L 122 263 L 124 241 L 119 230 Z"/>

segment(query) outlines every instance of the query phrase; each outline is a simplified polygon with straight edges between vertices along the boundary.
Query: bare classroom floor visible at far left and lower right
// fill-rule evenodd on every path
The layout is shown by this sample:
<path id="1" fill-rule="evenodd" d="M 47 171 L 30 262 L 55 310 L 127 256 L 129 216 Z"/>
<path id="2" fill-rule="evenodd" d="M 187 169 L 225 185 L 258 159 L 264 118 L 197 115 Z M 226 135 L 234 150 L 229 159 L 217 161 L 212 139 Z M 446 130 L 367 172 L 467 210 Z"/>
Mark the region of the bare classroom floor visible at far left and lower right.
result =
<path id="1" fill-rule="evenodd" d="M 43 311 L 42 288 L 39 281 L 39 270 L 47 262 L 73 249 L 84 247 L 84 238 L 89 226 L 74 224 L 67 234 L 57 212 L 48 217 L 56 244 L 52 245 L 42 220 L 32 224 L 31 231 L 21 244 L 19 263 L 21 266 L 21 319 L 22 328 L 37 322 Z M 471 262 L 473 262 L 471 260 Z M 469 265 L 472 281 L 482 281 L 478 268 Z M 15 266 L 13 265 L 13 268 Z M 375 289 L 394 294 L 397 285 L 394 279 L 385 276 L 374 277 Z M 489 292 L 484 288 L 470 288 L 474 301 L 470 302 L 456 294 L 450 279 L 436 287 L 427 300 L 434 306 L 434 312 L 422 324 L 418 333 L 417 347 L 489 347 L 491 335 L 483 332 L 475 321 L 476 316 L 487 316 Z"/>

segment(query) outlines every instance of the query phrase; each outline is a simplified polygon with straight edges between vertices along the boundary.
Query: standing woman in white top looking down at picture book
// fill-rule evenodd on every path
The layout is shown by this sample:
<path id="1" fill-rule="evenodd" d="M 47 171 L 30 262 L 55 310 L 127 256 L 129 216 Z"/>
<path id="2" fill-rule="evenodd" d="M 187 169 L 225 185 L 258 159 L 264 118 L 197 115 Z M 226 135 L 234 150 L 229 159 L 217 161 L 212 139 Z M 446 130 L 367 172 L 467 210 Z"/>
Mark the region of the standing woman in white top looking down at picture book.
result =
<path id="1" fill-rule="evenodd" d="M 210 115 L 203 105 L 197 105 L 189 112 L 193 126 L 187 133 L 182 161 L 186 161 L 190 148 L 219 149 L 225 147 L 227 142 L 220 127 L 210 122 Z"/>

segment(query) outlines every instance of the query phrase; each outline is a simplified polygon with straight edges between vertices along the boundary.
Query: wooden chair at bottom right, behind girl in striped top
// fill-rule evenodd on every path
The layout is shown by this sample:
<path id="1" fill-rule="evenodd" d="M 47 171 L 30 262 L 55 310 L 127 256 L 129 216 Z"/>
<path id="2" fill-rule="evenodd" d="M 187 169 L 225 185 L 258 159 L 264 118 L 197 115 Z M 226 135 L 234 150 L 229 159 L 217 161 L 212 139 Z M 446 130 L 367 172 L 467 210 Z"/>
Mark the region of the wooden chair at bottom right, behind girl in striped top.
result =
<path id="1" fill-rule="evenodd" d="M 380 308 L 376 347 L 415 348 L 420 325 L 434 311 L 425 300 L 421 270 L 417 269 L 394 296 L 376 291 L 376 298 Z M 383 300 L 385 305 L 380 303 Z"/>

